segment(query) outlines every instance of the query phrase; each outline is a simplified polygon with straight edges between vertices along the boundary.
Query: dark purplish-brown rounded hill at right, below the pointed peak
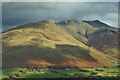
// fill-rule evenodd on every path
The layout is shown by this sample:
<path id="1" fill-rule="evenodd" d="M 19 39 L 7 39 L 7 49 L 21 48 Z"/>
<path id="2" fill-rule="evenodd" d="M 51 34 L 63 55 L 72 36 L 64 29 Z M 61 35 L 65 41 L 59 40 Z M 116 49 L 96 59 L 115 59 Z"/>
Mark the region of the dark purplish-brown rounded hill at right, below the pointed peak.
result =
<path id="1" fill-rule="evenodd" d="M 88 36 L 89 46 L 118 58 L 118 32 L 102 29 Z"/>

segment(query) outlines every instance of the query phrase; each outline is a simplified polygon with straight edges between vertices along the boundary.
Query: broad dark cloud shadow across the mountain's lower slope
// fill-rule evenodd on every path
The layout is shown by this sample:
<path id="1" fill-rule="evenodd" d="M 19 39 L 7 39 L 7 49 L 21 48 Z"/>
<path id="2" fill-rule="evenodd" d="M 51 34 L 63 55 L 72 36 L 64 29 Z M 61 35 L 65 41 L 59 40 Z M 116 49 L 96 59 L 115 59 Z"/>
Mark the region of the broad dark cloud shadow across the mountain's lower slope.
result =
<path id="1" fill-rule="evenodd" d="M 26 64 L 28 60 L 44 60 L 53 64 L 60 64 L 65 60 L 70 60 L 69 56 L 80 58 L 85 61 L 96 62 L 89 54 L 90 52 L 79 46 L 56 45 L 56 48 L 44 47 L 37 45 L 3 47 L 3 67 L 5 65 L 20 66 Z"/>

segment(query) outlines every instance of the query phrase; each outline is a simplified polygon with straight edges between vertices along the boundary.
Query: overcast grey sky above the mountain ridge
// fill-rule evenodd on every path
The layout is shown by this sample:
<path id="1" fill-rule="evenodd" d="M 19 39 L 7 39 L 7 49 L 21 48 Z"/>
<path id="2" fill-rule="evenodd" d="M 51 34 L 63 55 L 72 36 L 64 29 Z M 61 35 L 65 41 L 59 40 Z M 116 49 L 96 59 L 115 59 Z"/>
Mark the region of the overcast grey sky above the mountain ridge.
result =
<path id="1" fill-rule="evenodd" d="M 100 20 L 118 26 L 117 2 L 3 2 L 4 27 L 42 20 Z"/>

